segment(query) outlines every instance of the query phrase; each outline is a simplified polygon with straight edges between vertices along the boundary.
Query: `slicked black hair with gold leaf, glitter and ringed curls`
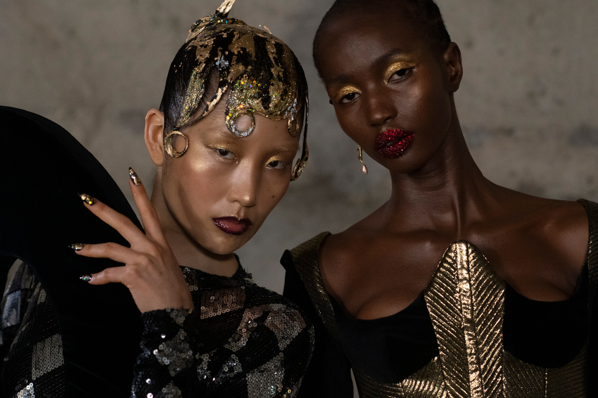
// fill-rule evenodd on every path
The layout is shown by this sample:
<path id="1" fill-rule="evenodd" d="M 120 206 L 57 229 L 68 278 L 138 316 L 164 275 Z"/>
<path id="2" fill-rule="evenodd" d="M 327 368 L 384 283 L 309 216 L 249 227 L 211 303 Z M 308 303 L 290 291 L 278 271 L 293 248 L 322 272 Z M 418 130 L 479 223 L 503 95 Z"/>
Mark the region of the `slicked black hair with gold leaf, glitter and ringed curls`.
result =
<path id="1" fill-rule="evenodd" d="M 225 1 L 215 13 L 191 27 L 184 47 L 185 61 L 171 66 L 175 79 L 186 87 L 185 94 L 178 99 L 182 108 L 175 124 L 168 127 L 164 136 L 205 118 L 224 94 L 228 94 L 225 124 L 237 137 L 246 137 L 254 131 L 254 115 L 273 121 L 288 119 L 289 134 L 295 137 L 303 129 L 305 135 L 307 81 L 301 64 L 276 36 L 241 20 L 228 18 L 233 2 Z M 211 98 L 204 98 L 206 85 L 215 84 L 210 80 L 214 72 L 218 87 Z M 205 107 L 199 109 L 200 103 L 206 104 Z M 302 112 L 306 113 L 305 122 L 300 117 Z M 241 131 L 237 129 L 236 121 L 244 115 L 252 118 L 252 124 Z M 306 145 L 304 139 L 304 150 L 291 180 L 301 174 L 307 163 Z"/>

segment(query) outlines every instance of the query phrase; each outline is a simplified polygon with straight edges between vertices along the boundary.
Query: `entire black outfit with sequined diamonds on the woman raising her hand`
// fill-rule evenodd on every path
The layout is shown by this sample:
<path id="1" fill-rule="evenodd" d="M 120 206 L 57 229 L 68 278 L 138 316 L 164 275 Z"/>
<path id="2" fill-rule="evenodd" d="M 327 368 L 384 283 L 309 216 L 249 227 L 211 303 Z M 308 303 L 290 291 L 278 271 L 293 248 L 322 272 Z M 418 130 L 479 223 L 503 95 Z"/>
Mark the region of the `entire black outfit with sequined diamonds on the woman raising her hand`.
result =
<path id="1" fill-rule="evenodd" d="M 240 266 L 230 278 L 185 269 L 196 306 L 191 314 L 142 315 L 126 286 L 82 282 L 81 275 L 120 264 L 77 255 L 71 243 L 127 242 L 87 210 L 77 192 L 102 200 L 139 229 L 141 223 L 108 172 L 65 129 L 11 107 L 0 106 L 0 119 L 5 140 L 27 137 L 29 143 L 25 152 L 0 156 L 0 285 L 17 259 L 35 275 L 35 283 L 10 298 L 21 313 L 6 316 L 19 326 L 3 331 L 1 349 L 11 347 L 11 357 L 0 360 L 3 397 L 294 396 L 313 336 L 297 307 L 256 286 Z M 13 347 L 22 355 L 13 356 Z M 50 353 L 47 361 L 33 355 L 40 347 Z M 45 373 L 34 380 L 37 369 Z M 56 374 L 57 387 L 44 387 Z M 15 390 L 17 379 L 32 385 Z"/>

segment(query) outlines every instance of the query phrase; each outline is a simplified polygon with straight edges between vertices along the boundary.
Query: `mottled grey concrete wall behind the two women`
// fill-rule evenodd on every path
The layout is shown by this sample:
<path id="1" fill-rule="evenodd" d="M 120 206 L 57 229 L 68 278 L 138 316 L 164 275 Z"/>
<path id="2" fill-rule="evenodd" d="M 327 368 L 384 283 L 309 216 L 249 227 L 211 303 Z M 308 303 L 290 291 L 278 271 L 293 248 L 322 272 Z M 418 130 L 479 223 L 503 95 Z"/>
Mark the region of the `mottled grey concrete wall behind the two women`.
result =
<path id="1" fill-rule="evenodd" d="M 130 198 L 127 167 L 154 173 L 144 116 L 199 17 L 219 0 L 0 0 L 0 104 L 63 125 Z M 310 46 L 332 0 L 237 0 L 231 16 L 286 41 L 310 84 L 310 161 L 239 250 L 258 283 L 282 291 L 278 260 L 322 230 L 338 232 L 389 196 L 373 161 L 337 125 Z M 598 200 L 598 2 L 438 0 L 463 52 L 457 110 L 474 158 L 498 184 L 550 198 Z M 17 143 L 23 149 L 26 141 Z"/>

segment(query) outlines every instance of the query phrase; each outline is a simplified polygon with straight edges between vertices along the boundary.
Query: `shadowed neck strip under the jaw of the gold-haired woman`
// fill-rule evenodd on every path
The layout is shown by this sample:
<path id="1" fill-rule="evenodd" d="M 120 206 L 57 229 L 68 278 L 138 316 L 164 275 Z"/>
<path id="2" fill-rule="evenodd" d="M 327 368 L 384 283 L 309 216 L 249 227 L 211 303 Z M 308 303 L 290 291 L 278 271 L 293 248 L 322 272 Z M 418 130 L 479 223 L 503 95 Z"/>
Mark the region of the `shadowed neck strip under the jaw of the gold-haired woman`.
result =
<path id="1" fill-rule="evenodd" d="M 234 254 L 216 254 L 203 248 L 173 217 L 164 199 L 160 169 L 154 177 L 151 202 L 157 212 L 164 237 L 180 266 L 210 274 L 233 276 L 238 267 Z"/>

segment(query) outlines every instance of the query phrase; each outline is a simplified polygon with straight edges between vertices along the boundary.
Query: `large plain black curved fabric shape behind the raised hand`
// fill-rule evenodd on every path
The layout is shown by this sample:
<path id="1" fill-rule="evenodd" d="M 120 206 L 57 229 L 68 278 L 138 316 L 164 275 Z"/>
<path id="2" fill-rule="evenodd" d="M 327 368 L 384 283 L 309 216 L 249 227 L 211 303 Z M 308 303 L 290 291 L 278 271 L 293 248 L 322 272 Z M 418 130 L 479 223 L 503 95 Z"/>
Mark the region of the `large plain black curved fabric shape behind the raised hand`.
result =
<path id="1" fill-rule="evenodd" d="M 128 397 L 141 352 L 139 310 L 125 286 L 92 286 L 79 279 L 121 264 L 81 257 L 68 247 L 127 242 L 84 208 L 77 192 L 102 200 L 140 229 L 141 224 L 108 172 L 65 129 L 4 106 L 0 122 L 0 283 L 16 258 L 41 281 L 60 324 L 67 396 Z"/>

